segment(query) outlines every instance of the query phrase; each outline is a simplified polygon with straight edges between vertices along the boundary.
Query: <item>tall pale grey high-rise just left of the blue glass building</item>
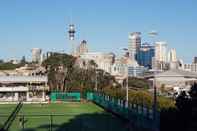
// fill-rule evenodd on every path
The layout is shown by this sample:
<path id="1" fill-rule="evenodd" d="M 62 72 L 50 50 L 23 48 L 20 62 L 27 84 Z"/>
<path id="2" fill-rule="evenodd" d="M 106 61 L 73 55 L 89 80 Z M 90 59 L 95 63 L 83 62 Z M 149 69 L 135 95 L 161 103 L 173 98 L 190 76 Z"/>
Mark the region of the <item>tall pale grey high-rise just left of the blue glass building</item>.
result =
<path id="1" fill-rule="evenodd" d="M 133 32 L 129 34 L 129 55 L 131 60 L 136 60 L 136 54 L 141 46 L 141 33 Z"/>

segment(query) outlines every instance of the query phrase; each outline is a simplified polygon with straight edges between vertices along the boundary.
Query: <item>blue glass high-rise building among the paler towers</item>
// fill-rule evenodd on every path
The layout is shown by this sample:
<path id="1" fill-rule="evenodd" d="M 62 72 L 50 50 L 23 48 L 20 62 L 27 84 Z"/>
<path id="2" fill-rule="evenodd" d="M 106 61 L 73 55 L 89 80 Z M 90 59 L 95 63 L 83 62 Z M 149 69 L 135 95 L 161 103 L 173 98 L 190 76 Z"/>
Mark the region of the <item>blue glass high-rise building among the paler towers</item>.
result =
<path id="1" fill-rule="evenodd" d="M 155 56 L 155 47 L 148 43 L 142 44 L 137 52 L 137 62 L 139 65 L 152 68 L 152 58 Z"/>

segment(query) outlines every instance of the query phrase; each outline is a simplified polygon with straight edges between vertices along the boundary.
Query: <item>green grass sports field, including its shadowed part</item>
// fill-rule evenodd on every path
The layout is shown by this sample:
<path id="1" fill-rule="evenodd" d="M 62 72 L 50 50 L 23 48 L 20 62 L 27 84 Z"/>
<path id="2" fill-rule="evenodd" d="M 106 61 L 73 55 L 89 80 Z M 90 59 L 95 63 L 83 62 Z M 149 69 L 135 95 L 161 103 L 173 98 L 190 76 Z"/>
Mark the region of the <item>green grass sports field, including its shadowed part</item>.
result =
<path id="1" fill-rule="evenodd" d="M 16 105 L 0 105 L 10 115 Z M 125 123 L 93 103 L 24 104 L 10 131 L 125 131 Z M 7 117 L 0 116 L 0 125 Z M 51 124 L 52 123 L 52 124 Z"/>

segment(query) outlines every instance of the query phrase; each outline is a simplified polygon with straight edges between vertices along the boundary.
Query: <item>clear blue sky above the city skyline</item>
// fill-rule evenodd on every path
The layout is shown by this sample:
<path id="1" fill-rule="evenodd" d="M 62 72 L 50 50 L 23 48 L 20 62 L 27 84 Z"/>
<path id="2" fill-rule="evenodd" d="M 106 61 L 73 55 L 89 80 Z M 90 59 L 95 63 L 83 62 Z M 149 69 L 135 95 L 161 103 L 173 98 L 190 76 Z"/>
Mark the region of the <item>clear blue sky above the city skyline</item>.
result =
<path id="1" fill-rule="evenodd" d="M 90 51 L 121 55 L 138 31 L 143 42 L 166 41 L 186 63 L 197 56 L 196 0 L 1 0 L 0 59 L 30 59 L 31 48 L 69 53 L 70 23 L 75 43 L 87 40 Z"/>

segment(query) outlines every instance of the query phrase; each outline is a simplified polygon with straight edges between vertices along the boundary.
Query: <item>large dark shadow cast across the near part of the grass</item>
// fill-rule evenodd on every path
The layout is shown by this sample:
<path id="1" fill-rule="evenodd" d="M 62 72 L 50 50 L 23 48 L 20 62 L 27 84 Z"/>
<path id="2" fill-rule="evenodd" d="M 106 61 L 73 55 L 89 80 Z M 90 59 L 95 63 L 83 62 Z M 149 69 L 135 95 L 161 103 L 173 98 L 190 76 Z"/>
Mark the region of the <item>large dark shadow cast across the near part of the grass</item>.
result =
<path id="1" fill-rule="evenodd" d="M 53 124 L 54 123 L 54 124 Z M 21 131 L 131 131 L 126 120 L 109 113 L 79 114 L 62 124 L 43 124 L 36 128 L 25 128 Z"/>

